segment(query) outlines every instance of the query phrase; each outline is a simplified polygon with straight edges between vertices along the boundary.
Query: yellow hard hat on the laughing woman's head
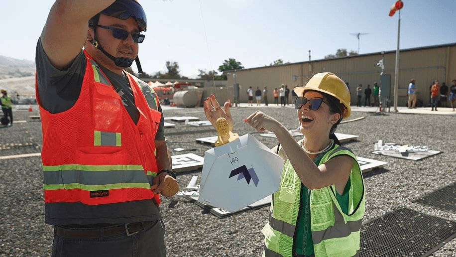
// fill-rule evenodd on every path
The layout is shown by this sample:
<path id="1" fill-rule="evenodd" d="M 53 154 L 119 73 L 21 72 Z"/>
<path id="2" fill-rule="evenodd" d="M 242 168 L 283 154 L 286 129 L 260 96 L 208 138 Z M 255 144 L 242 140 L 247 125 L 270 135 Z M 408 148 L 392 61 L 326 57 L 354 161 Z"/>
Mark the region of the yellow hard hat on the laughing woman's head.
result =
<path id="1" fill-rule="evenodd" d="M 347 85 L 338 76 L 331 72 L 322 72 L 315 74 L 304 87 L 293 89 L 298 96 L 304 96 L 306 90 L 319 91 L 326 93 L 338 99 L 345 106 L 342 110 L 342 118 L 348 118 L 351 114 L 350 109 L 350 91 Z"/>

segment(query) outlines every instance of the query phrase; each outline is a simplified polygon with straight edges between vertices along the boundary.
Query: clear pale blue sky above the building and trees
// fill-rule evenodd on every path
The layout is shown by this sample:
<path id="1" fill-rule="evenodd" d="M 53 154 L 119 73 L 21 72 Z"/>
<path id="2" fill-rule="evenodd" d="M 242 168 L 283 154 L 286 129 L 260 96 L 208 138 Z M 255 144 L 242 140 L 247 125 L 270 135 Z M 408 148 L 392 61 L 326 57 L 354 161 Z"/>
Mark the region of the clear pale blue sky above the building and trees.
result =
<path id="1" fill-rule="evenodd" d="M 139 0 L 148 26 L 139 58 L 148 74 L 177 62 L 180 74 L 217 70 L 234 58 L 245 68 L 277 59 L 323 59 L 337 49 L 360 54 L 396 49 L 395 0 Z M 0 55 L 34 60 L 53 0 L 2 2 Z M 7 10 L 7 11 L 6 11 Z M 404 0 L 400 48 L 456 43 L 456 0 Z M 133 70 L 136 70 L 133 64 Z"/>

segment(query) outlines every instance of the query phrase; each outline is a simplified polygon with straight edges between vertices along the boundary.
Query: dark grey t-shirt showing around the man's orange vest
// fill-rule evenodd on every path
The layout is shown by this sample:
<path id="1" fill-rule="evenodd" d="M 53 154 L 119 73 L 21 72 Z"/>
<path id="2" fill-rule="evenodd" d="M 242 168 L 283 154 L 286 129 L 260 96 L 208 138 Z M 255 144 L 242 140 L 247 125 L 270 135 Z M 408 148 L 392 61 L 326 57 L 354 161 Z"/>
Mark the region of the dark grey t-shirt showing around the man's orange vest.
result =
<path id="1" fill-rule="evenodd" d="M 61 71 L 50 63 L 44 53 L 41 41 L 36 46 L 36 74 L 37 74 L 37 95 L 40 105 L 50 113 L 64 112 L 74 106 L 79 98 L 86 70 L 86 58 L 81 50 L 73 61 L 72 65 Z M 131 88 L 128 85 L 128 78 L 114 74 L 108 69 L 100 68 L 108 76 L 114 89 L 121 96 L 124 106 L 131 119 L 136 124 L 139 113 L 134 105 L 134 98 Z M 146 86 L 145 82 L 141 86 Z M 142 90 L 144 93 L 147 90 Z M 146 100 L 151 100 L 146 96 Z M 152 106 L 149 103 L 149 106 Z M 161 107 L 158 111 L 162 113 L 160 125 L 155 136 L 157 140 L 164 140 L 164 118 Z M 160 219 L 160 208 L 154 199 L 130 201 L 123 203 L 86 205 L 76 203 L 45 203 L 44 222 L 50 225 L 89 225 L 99 223 L 131 223 L 146 220 Z"/>

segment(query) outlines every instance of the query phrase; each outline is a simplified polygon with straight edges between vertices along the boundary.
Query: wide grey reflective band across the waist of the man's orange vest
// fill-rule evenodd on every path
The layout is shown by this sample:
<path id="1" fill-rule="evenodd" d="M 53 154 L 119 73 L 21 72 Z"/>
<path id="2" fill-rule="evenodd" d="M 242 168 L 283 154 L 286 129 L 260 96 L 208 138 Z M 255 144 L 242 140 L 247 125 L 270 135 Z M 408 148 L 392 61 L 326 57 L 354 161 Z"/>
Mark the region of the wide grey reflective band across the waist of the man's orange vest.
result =
<path id="1" fill-rule="evenodd" d="M 144 170 L 44 171 L 44 184 L 61 185 L 78 183 L 83 185 L 107 185 L 118 183 L 144 183 L 144 176 Z"/>

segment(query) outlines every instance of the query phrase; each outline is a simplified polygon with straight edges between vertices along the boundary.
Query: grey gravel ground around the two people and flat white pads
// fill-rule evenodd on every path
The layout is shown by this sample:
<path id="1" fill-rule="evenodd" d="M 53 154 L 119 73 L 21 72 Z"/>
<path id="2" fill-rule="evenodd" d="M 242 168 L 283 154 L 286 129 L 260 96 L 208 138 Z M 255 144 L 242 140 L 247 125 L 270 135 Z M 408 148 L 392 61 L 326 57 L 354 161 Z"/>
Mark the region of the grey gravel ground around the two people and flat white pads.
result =
<path id="1" fill-rule="evenodd" d="M 259 136 L 256 130 L 242 120 L 261 110 L 276 117 L 287 128 L 298 126 L 296 112 L 291 108 L 239 107 L 232 108 L 234 131 L 239 135 L 250 133 L 268 147 L 276 145 L 276 139 Z M 166 108 L 165 116 L 195 116 L 205 120 L 202 108 Z M 41 149 L 41 123 L 28 121 L 29 115 L 37 112 L 15 111 L 17 123 L 9 128 L 0 128 L 2 142 L 0 156 L 36 153 Z M 429 114 L 376 115 L 367 112 L 352 112 L 348 120 L 364 119 L 341 124 L 338 132 L 358 135 L 357 141 L 344 143 L 360 157 L 388 162 L 383 168 L 364 173 L 366 183 L 366 213 L 363 223 L 387 214 L 398 208 L 409 208 L 427 215 L 456 221 L 456 213 L 414 203 L 437 189 L 456 181 L 456 141 L 450 138 L 456 125 L 456 116 Z M 195 153 L 204 156 L 211 148 L 196 142 L 196 138 L 214 136 L 212 127 L 186 126 L 175 123 L 175 128 L 166 128 L 170 149 L 186 150 L 173 155 Z M 298 139 L 298 138 L 297 138 Z M 374 155 L 373 144 L 383 142 L 426 145 L 440 150 L 441 154 L 421 161 Z M 195 150 L 196 149 L 196 150 Z M 185 186 L 201 170 L 179 173 L 180 188 Z M 52 227 L 44 224 L 42 171 L 39 156 L 0 159 L 0 257 L 45 257 L 50 256 Z M 199 181 L 198 181 L 199 183 Z M 189 200 L 174 196 L 162 198 L 162 215 L 167 234 L 166 243 L 170 257 L 250 257 L 260 256 L 263 236 L 261 228 L 267 222 L 268 207 L 245 211 L 220 219 Z M 431 256 L 456 256 L 456 239 L 453 239 Z"/>

